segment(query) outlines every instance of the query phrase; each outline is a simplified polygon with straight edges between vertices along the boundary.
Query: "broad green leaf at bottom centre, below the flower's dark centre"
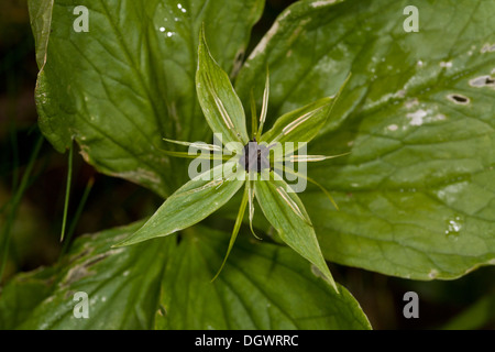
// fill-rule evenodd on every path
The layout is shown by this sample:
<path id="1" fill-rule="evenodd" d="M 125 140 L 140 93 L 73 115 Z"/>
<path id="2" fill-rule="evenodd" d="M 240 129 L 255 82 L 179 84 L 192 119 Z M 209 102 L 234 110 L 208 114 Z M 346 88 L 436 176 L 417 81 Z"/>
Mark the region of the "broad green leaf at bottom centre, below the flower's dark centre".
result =
<path id="1" fill-rule="evenodd" d="M 167 262 L 156 327 L 166 329 L 369 329 L 349 292 L 340 295 L 293 250 L 238 238 L 220 276 L 228 235 L 187 231 Z M 249 239 L 249 240 L 248 240 Z M 251 240 L 251 241 L 250 241 Z"/>

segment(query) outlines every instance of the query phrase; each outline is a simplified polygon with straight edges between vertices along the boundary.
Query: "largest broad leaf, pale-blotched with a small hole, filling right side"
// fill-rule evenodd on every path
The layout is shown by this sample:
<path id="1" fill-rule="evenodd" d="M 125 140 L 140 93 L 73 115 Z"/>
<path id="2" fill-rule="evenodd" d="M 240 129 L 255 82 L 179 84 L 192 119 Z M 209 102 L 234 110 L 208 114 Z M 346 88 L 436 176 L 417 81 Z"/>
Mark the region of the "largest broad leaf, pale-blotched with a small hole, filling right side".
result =
<path id="1" fill-rule="evenodd" d="M 267 124 L 352 78 L 308 166 L 334 196 L 301 199 L 330 261 L 388 275 L 454 278 L 495 264 L 495 3 L 301 1 L 249 57 L 237 90 L 249 102 L 271 72 Z"/>

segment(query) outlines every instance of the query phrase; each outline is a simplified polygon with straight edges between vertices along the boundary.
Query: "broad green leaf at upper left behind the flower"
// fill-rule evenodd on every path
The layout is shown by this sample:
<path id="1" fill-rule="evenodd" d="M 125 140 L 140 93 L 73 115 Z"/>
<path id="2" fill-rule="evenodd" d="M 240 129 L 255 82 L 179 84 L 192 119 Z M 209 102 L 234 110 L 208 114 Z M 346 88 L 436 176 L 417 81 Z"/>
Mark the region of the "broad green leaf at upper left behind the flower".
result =
<path id="1" fill-rule="evenodd" d="M 162 139 L 211 139 L 195 89 L 199 30 L 205 22 L 212 55 L 235 74 L 263 4 L 30 1 L 44 135 L 61 152 L 74 139 L 100 172 L 169 195 L 185 179 L 184 163 L 160 152 Z M 89 11 L 89 32 L 74 31 L 77 6 Z"/>

